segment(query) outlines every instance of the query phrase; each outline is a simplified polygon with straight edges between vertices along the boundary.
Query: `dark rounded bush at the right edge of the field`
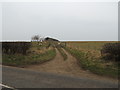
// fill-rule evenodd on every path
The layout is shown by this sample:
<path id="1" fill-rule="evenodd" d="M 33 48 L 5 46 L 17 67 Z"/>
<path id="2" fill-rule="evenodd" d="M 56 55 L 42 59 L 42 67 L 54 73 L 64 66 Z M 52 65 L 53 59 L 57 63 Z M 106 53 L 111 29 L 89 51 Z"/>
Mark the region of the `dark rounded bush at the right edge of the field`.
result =
<path id="1" fill-rule="evenodd" d="M 101 56 L 105 60 L 119 61 L 120 43 L 107 43 L 101 49 Z"/>

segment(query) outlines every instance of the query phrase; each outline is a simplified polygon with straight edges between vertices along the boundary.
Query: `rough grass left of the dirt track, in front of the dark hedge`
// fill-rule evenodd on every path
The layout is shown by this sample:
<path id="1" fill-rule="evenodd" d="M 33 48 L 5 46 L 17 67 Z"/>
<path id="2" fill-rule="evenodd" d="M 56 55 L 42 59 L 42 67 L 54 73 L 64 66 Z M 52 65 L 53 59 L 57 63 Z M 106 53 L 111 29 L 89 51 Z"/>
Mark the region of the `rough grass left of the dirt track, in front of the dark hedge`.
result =
<path id="1" fill-rule="evenodd" d="M 27 55 L 22 54 L 2 54 L 2 64 L 10 66 L 24 67 L 31 64 L 40 64 L 49 60 L 52 60 L 56 56 L 54 48 L 39 48 L 39 46 L 30 48 Z"/>

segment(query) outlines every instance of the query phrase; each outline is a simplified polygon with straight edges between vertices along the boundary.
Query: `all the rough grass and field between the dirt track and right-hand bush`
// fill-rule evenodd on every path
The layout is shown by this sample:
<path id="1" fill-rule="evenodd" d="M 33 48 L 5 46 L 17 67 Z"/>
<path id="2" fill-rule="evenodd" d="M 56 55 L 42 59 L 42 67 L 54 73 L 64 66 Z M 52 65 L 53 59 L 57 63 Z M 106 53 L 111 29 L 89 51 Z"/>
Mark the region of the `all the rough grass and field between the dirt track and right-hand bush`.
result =
<path id="1" fill-rule="evenodd" d="M 65 49 L 68 52 L 70 52 L 73 56 L 76 57 L 76 59 L 78 60 L 78 64 L 83 69 L 89 70 L 99 75 L 117 78 L 118 71 L 120 72 L 120 69 L 118 68 L 118 63 L 108 62 L 101 59 L 99 52 L 103 43 L 105 42 L 73 43 L 72 45 L 75 45 L 75 46 L 80 45 L 79 48 L 77 49 L 75 46 L 70 47 L 68 45 L 69 47 L 66 47 Z M 83 44 L 84 46 L 81 47 Z M 88 44 L 89 44 L 89 47 L 88 47 Z M 94 48 L 94 46 L 96 47 Z M 93 51 L 95 52 L 93 53 Z"/>

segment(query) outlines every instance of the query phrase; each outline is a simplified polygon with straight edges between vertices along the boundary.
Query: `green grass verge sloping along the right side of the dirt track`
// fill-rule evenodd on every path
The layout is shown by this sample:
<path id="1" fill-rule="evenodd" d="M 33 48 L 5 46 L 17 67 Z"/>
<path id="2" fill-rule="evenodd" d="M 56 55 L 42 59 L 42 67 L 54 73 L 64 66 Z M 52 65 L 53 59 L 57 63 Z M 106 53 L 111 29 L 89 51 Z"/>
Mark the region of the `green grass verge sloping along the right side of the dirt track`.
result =
<path id="1" fill-rule="evenodd" d="M 76 49 L 72 48 L 65 48 L 68 52 L 70 52 L 73 56 L 76 57 L 78 60 L 79 65 L 86 70 L 89 70 L 93 73 L 109 76 L 113 78 L 118 78 L 118 73 L 120 72 L 120 69 L 118 67 L 118 64 L 111 65 L 111 66 L 104 66 L 103 64 L 105 62 L 102 62 L 101 60 L 94 60 L 94 58 L 89 58 L 89 56 Z"/>

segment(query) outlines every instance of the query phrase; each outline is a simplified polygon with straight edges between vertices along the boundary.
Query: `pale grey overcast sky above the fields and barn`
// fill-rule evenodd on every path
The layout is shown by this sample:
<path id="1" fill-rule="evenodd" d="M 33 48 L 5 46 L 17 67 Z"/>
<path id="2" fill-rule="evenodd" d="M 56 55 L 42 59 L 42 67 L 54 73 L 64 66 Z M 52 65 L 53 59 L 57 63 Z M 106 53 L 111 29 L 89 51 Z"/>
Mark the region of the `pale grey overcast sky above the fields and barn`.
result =
<path id="1" fill-rule="evenodd" d="M 6 2 L 0 12 L 4 41 L 37 34 L 61 41 L 118 40 L 117 2 Z"/>

